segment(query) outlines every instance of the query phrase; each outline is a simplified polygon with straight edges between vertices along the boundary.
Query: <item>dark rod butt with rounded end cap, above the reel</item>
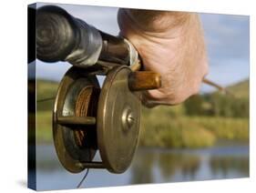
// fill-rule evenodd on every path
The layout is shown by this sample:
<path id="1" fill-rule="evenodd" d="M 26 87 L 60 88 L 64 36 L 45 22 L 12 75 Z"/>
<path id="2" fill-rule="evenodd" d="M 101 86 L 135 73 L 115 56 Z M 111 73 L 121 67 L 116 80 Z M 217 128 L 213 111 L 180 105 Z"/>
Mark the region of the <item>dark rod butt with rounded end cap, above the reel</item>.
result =
<path id="1" fill-rule="evenodd" d="M 87 67 L 102 60 L 128 66 L 130 51 L 123 38 L 100 32 L 58 6 L 36 12 L 36 57 L 42 61 Z"/>

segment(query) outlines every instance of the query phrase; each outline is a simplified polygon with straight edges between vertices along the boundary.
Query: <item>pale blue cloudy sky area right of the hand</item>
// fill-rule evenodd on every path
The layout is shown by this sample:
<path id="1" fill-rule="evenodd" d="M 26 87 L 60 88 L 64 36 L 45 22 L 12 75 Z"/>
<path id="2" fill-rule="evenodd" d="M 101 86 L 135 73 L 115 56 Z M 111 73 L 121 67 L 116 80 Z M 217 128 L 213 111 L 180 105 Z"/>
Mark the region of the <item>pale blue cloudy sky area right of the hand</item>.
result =
<path id="1" fill-rule="evenodd" d="M 201 14 L 200 17 L 210 63 L 207 77 L 222 86 L 249 78 L 249 16 Z M 212 88 L 202 86 L 201 90 Z"/>

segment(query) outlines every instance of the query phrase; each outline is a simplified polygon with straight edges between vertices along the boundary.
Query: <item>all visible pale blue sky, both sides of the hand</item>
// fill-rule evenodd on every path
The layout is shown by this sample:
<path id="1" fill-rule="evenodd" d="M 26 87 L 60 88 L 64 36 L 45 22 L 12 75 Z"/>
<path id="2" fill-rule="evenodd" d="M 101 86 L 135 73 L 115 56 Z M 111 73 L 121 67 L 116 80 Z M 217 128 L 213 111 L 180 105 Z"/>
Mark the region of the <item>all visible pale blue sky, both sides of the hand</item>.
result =
<path id="1" fill-rule="evenodd" d="M 45 4 L 37 4 L 38 6 Z M 118 35 L 115 7 L 59 5 L 67 12 L 108 34 Z M 250 17 L 247 15 L 200 14 L 209 57 L 210 80 L 229 86 L 249 78 Z M 71 67 L 67 62 L 44 63 L 36 60 L 37 78 L 59 81 Z M 201 86 L 201 92 L 212 91 Z"/>

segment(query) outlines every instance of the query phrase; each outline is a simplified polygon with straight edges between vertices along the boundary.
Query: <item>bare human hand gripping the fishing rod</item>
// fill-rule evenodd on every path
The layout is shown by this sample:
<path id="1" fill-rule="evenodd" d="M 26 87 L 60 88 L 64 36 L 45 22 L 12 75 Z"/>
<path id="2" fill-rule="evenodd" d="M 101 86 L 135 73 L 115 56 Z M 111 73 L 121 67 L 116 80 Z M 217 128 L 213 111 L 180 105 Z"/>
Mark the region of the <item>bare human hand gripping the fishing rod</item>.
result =
<path id="1" fill-rule="evenodd" d="M 184 12 L 119 9 L 120 35 L 137 48 L 145 70 L 162 86 L 143 93 L 147 107 L 176 105 L 200 90 L 208 61 L 200 18 Z"/>

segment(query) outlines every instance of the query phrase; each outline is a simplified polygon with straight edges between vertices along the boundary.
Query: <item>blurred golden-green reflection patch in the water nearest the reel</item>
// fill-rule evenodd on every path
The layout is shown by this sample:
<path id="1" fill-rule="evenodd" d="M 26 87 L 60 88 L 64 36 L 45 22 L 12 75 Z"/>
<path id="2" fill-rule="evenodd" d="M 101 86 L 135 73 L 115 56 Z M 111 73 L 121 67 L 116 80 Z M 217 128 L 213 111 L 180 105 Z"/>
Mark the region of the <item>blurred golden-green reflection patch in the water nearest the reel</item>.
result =
<path id="1" fill-rule="evenodd" d="M 145 184 L 159 181 L 154 179 L 154 167 L 163 181 L 171 181 L 177 173 L 183 179 L 194 180 L 200 168 L 200 157 L 181 153 L 140 151 L 131 168 L 131 184 Z"/>

